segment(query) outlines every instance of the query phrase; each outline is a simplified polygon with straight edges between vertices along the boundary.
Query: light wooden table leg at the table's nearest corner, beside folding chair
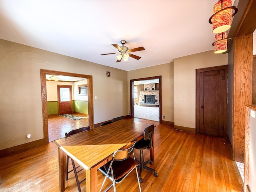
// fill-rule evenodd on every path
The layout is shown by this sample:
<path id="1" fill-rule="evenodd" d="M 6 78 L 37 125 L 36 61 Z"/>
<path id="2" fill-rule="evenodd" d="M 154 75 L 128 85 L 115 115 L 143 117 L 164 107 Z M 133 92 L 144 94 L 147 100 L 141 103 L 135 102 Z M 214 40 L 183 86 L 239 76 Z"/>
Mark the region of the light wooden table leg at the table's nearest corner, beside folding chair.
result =
<path id="1" fill-rule="evenodd" d="M 86 175 L 86 192 L 98 191 L 98 174 L 97 169 L 85 170 Z"/>

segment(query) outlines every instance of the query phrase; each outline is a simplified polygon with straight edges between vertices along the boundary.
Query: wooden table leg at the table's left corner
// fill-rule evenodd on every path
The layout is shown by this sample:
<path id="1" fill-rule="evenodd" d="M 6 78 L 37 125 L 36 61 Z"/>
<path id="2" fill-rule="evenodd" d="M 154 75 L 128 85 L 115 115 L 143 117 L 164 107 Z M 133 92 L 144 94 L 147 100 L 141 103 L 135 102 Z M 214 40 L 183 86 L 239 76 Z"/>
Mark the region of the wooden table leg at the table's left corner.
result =
<path id="1" fill-rule="evenodd" d="M 66 153 L 58 147 L 59 155 L 59 185 L 60 192 L 65 191 L 66 188 Z"/>

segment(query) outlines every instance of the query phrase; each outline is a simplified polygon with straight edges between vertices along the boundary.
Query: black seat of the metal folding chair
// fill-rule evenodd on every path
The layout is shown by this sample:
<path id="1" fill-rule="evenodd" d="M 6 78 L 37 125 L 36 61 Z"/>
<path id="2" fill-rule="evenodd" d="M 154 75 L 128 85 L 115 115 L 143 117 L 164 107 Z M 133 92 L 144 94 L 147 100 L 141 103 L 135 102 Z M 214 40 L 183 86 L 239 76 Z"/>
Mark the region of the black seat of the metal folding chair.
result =
<path id="1" fill-rule="evenodd" d="M 131 157 L 127 158 L 124 161 L 114 161 L 112 163 L 114 180 L 116 180 L 116 181 L 119 180 L 120 178 L 125 176 L 131 169 L 133 169 L 134 167 L 136 167 L 138 165 L 139 165 L 139 163 Z M 110 162 L 108 162 L 107 164 L 105 164 L 103 166 L 103 168 L 106 170 L 106 172 L 107 172 L 109 166 L 110 166 Z M 111 176 L 111 171 L 109 171 L 109 176 Z"/>

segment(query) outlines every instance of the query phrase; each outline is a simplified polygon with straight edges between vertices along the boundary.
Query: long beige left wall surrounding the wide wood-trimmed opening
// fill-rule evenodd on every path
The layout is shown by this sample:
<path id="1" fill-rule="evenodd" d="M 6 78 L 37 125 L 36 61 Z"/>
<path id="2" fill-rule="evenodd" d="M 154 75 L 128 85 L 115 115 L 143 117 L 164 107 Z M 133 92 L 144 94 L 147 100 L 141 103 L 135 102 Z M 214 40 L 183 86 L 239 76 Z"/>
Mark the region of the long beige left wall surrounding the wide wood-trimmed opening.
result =
<path id="1" fill-rule="evenodd" d="M 128 114 L 126 71 L 0 39 L 0 150 L 43 138 L 41 68 L 93 76 L 95 124 Z"/>

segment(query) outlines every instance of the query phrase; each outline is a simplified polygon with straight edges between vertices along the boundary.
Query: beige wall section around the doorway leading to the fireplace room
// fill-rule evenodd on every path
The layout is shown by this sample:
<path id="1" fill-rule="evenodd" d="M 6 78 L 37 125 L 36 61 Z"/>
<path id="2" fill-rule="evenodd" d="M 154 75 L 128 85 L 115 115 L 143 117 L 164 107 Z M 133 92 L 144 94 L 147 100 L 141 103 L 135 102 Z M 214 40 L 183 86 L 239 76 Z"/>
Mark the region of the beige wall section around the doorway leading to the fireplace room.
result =
<path id="1" fill-rule="evenodd" d="M 128 71 L 128 110 L 130 111 L 130 80 L 162 76 L 162 116 L 165 121 L 174 122 L 173 63 L 167 63 Z"/>

